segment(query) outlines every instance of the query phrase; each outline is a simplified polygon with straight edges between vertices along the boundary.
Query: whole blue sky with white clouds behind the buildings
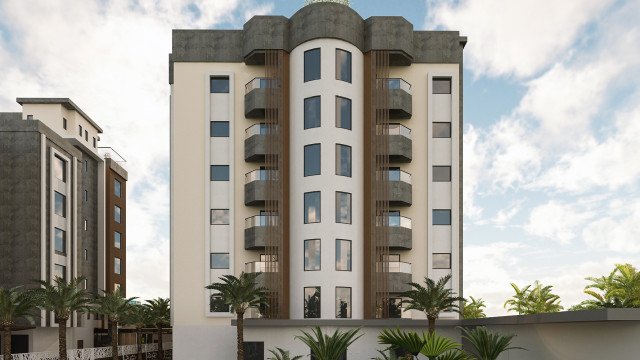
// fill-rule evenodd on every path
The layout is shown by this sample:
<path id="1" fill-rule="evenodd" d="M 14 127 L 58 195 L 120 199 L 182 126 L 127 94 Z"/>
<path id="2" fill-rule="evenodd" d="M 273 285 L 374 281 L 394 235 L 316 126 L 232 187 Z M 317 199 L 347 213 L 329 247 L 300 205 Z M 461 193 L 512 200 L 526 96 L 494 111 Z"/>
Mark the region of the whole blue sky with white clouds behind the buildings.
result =
<path id="1" fill-rule="evenodd" d="M 127 160 L 128 295 L 169 294 L 171 29 L 241 28 L 303 0 L 0 0 L 0 111 L 69 97 Z M 506 314 L 540 280 L 640 266 L 640 0 L 352 0 L 457 30 L 464 50 L 464 296 Z"/>

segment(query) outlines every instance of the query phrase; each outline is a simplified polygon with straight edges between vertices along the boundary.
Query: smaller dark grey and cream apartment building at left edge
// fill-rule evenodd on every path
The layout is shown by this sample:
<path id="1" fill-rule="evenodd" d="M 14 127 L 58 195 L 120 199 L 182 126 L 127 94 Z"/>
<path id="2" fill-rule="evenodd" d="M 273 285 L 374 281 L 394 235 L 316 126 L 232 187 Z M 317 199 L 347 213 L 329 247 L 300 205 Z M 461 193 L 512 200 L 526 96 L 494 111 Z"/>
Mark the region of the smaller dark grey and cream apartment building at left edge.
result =
<path id="1" fill-rule="evenodd" d="M 91 293 L 125 288 L 127 172 L 98 147 L 102 129 L 73 101 L 18 98 L 0 113 L 0 286 L 84 276 Z M 101 155 L 102 154 L 102 155 Z M 41 313 L 14 333 L 18 352 L 56 350 L 57 323 Z M 75 314 L 68 347 L 91 347 L 102 326 Z"/>

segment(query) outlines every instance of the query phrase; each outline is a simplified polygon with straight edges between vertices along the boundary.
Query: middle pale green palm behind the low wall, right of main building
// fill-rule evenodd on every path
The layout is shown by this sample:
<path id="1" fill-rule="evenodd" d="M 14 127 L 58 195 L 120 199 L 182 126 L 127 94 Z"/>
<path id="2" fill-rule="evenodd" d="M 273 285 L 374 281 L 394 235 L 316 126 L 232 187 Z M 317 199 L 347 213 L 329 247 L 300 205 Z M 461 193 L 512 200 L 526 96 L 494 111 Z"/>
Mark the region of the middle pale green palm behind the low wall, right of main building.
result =
<path id="1" fill-rule="evenodd" d="M 531 288 L 533 286 L 533 288 Z M 515 311 L 520 315 L 558 312 L 562 310 L 560 296 L 553 294 L 553 286 L 542 286 L 539 281 L 529 284 L 522 289 L 511 283 L 515 294 L 504 303 L 508 311 Z"/>

